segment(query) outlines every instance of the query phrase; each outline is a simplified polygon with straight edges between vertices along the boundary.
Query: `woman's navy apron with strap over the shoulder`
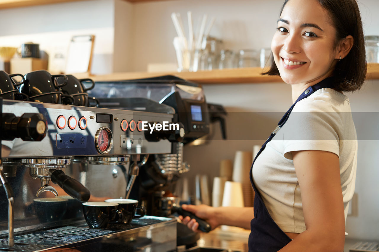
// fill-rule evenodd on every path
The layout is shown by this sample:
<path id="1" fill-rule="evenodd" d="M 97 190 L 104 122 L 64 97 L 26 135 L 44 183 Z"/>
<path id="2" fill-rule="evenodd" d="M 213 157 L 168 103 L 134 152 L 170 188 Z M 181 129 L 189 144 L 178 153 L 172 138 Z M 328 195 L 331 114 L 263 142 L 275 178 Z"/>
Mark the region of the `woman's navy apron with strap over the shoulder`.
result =
<path id="1" fill-rule="evenodd" d="M 262 148 L 259 150 L 257 156 L 254 158 L 254 161 L 250 168 L 250 181 L 251 185 L 254 188 L 255 191 L 255 198 L 254 198 L 254 219 L 251 220 L 250 227 L 251 227 L 251 233 L 249 235 L 249 252 L 276 252 L 280 249 L 282 249 L 284 246 L 286 246 L 290 241 L 291 238 L 288 237 L 281 229 L 280 227 L 274 222 L 273 218 L 271 218 L 270 214 L 268 213 L 268 210 L 263 203 L 263 200 L 261 196 L 259 195 L 259 192 L 257 188 L 254 185 L 253 179 L 252 179 L 252 169 L 255 160 L 259 156 L 259 154 L 262 153 L 262 151 L 265 149 L 268 142 L 273 139 L 273 137 L 276 135 L 276 132 L 279 131 L 279 129 L 285 124 L 288 117 L 291 114 L 291 111 L 293 107 L 295 106 L 298 101 L 307 98 L 312 93 L 314 93 L 316 90 L 324 88 L 324 87 L 334 87 L 334 79 L 332 77 L 326 78 L 323 81 L 308 87 L 298 98 L 298 100 L 295 101 L 295 103 L 288 109 L 287 113 L 282 117 L 282 119 L 279 121 L 278 126 L 274 130 L 273 133 L 271 133 L 270 137 L 266 140 L 266 142 L 262 145 Z"/>

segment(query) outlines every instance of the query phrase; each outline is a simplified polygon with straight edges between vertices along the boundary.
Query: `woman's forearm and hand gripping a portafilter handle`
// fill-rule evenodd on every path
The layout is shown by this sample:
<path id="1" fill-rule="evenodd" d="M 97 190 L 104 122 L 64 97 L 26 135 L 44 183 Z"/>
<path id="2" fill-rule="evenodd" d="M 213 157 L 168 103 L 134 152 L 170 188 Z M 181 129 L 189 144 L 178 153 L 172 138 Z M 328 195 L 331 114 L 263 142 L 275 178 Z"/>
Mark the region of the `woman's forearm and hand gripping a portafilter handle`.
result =
<path id="1" fill-rule="evenodd" d="M 182 205 L 184 210 L 194 213 L 197 217 L 205 219 L 215 229 L 219 225 L 228 225 L 250 229 L 250 221 L 254 218 L 253 207 L 210 207 L 207 205 Z M 180 218 L 183 224 L 193 231 L 200 232 L 199 224 L 195 219 Z"/>

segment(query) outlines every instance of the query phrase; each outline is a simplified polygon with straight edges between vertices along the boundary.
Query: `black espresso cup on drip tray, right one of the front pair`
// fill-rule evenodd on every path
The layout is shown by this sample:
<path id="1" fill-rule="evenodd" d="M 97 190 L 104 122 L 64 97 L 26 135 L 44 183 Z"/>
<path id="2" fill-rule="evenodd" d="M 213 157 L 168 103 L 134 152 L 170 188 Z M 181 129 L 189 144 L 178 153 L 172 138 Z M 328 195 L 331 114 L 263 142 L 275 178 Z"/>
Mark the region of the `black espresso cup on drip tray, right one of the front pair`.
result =
<path id="1" fill-rule="evenodd" d="M 129 224 L 132 219 L 141 218 L 146 215 L 146 208 L 138 206 L 138 201 L 135 199 L 106 199 L 105 202 L 117 203 L 118 210 L 122 212 L 123 218 L 118 220 L 118 224 Z M 140 211 L 141 214 L 137 214 Z"/>

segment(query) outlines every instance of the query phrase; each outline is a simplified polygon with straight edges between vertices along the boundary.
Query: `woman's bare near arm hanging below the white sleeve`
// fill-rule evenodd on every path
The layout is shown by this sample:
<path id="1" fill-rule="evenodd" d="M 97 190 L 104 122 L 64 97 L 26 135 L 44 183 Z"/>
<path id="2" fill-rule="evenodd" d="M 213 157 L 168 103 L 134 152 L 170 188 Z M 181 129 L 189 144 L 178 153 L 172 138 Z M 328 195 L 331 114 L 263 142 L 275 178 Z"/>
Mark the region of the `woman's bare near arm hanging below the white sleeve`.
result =
<path id="1" fill-rule="evenodd" d="M 306 230 L 280 252 L 343 251 L 345 213 L 340 162 L 328 151 L 293 151 Z"/>

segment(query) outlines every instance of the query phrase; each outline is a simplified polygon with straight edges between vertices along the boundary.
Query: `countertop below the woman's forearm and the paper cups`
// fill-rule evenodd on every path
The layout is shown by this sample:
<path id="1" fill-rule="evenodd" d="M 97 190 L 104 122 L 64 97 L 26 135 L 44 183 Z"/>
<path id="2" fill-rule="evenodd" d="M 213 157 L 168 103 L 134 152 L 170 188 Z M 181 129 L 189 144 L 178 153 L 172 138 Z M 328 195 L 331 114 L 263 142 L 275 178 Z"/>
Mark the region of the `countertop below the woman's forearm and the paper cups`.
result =
<path id="1" fill-rule="evenodd" d="M 200 247 L 218 247 L 223 249 L 235 249 L 244 252 L 248 251 L 247 241 L 250 230 L 236 227 L 218 227 L 209 233 L 200 233 L 197 245 Z M 346 237 L 344 252 L 349 252 L 350 247 L 360 239 Z"/>

